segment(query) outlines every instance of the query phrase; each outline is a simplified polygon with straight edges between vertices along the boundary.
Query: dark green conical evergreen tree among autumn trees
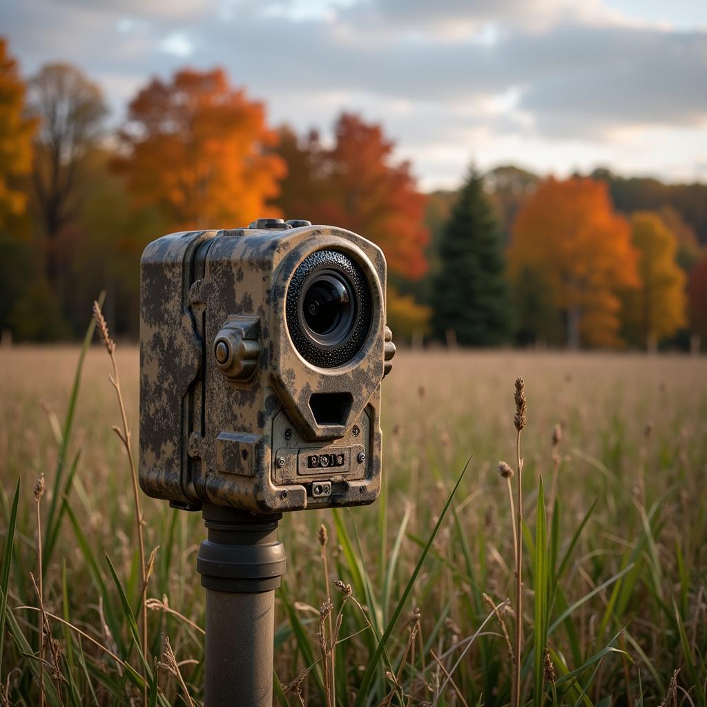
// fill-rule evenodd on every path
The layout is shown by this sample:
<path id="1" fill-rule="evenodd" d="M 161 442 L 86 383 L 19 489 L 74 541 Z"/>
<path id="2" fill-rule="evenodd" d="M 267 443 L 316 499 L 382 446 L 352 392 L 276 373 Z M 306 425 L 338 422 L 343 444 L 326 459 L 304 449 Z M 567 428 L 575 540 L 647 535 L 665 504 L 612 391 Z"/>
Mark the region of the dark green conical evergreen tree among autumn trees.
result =
<path id="1" fill-rule="evenodd" d="M 432 294 L 436 336 L 444 339 L 452 329 L 463 346 L 506 343 L 513 317 L 500 232 L 475 168 L 443 231 L 438 261 Z"/>

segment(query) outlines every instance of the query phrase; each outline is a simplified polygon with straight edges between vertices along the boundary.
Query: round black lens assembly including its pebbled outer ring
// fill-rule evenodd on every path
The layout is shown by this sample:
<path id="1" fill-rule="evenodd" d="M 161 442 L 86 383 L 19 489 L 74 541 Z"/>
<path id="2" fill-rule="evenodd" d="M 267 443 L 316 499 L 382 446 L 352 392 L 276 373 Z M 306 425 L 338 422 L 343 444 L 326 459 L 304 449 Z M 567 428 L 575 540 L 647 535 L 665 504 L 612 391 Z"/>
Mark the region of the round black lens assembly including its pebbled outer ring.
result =
<path id="1" fill-rule="evenodd" d="M 287 289 L 286 320 L 306 361 L 336 368 L 366 342 L 372 320 L 370 287 L 361 267 L 333 250 L 308 255 Z"/>

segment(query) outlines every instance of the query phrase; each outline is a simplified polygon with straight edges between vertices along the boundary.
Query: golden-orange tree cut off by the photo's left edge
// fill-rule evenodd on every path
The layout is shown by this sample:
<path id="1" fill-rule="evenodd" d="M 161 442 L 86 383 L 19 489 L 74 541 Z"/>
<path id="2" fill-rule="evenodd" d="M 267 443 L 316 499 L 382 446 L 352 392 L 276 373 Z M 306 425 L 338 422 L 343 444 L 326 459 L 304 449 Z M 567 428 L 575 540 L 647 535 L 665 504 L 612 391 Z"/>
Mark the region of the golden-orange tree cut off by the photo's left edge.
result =
<path id="1" fill-rule="evenodd" d="M 24 107 L 25 85 L 7 40 L 0 37 L 0 228 L 8 216 L 25 209 L 25 193 L 13 180 L 30 171 L 36 125 L 23 115 Z"/>

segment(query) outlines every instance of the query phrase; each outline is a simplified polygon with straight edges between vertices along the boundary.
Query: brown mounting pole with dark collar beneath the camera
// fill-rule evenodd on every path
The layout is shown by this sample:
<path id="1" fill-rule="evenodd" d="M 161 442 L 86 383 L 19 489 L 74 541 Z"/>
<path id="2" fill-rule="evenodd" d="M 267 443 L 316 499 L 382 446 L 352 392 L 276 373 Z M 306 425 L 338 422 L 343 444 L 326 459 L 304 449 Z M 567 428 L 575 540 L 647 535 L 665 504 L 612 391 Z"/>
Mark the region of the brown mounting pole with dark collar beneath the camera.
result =
<path id="1" fill-rule="evenodd" d="M 206 588 L 204 707 L 271 707 L 275 590 L 285 573 L 280 514 L 204 503 L 197 570 Z"/>

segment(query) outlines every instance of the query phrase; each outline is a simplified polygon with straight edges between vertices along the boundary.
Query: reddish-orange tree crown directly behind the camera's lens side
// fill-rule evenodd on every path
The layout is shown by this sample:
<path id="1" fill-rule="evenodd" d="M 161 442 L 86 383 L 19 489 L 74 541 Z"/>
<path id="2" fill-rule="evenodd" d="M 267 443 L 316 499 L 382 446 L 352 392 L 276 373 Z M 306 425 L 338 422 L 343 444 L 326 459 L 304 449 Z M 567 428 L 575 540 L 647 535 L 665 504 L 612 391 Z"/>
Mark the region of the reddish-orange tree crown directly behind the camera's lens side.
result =
<path id="1" fill-rule="evenodd" d="M 394 144 L 380 125 L 343 113 L 331 148 L 322 146 L 315 132 L 302 141 L 289 129 L 281 136 L 280 153 L 290 175 L 279 206 L 288 218 L 342 226 L 373 240 L 394 276 L 419 279 L 425 274 L 426 197 L 409 163 L 393 163 Z"/>

